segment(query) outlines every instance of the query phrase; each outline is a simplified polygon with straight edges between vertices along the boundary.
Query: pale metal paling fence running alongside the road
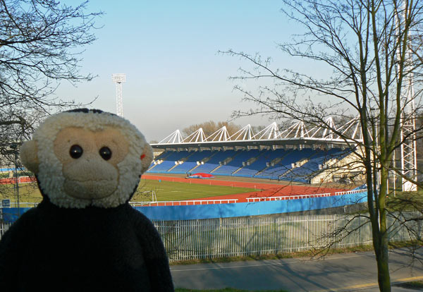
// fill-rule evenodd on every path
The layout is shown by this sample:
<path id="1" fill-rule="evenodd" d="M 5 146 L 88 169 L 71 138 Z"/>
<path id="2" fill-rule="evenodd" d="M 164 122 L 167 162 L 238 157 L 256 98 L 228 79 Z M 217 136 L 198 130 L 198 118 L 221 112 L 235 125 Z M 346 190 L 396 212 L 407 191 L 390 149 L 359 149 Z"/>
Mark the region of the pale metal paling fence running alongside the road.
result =
<path id="1" fill-rule="evenodd" d="M 261 216 L 153 221 L 169 260 L 293 253 L 372 244 L 367 215 Z M 422 240 L 420 213 L 388 217 L 390 241 Z M 0 238 L 10 224 L 0 222 Z"/>

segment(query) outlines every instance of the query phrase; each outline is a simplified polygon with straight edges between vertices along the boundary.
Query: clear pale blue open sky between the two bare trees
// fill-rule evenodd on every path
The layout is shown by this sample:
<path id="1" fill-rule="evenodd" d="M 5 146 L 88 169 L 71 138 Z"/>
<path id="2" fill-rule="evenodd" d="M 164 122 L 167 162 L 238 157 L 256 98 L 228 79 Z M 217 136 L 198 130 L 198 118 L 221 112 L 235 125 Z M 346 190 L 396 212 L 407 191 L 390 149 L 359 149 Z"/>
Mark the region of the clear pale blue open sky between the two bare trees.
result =
<path id="1" fill-rule="evenodd" d="M 72 1 L 70 2 L 72 3 Z M 233 49 L 271 56 L 275 66 L 293 66 L 278 43 L 287 42 L 294 24 L 281 12 L 281 1 L 109 1 L 90 0 L 88 11 L 103 11 L 96 20 L 97 40 L 81 55 L 81 73 L 98 75 L 76 86 L 62 84 L 62 99 L 90 102 L 116 113 L 114 73 L 125 73 L 123 116 L 148 141 L 204 121 L 228 121 L 242 102 L 228 78 L 245 65 L 219 54 Z M 262 116 L 239 118 L 240 126 L 268 126 Z"/>

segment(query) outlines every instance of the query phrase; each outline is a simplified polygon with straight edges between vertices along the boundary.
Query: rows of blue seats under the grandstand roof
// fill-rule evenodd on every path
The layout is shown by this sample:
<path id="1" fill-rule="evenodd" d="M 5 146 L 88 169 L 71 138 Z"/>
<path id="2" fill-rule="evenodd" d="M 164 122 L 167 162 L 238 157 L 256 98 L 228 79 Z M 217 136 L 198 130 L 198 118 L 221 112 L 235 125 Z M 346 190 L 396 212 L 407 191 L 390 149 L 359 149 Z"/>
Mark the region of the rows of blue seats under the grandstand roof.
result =
<path id="1" fill-rule="evenodd" d="M 283 181 L 308 182 L 319 173 L 321 166 L 334 157 L 342 159 L 350 151 L 331 150 L 204 150 L 165 151 L 155 160 L 163 160 L 149 169 L 149 173 L 187 174 L 204 172 L 220 176 L 243 176 Z M 278 159 L 276 164 L 269 165 Z M 293 164 L 307 162 L 293 168 Z M 228 161 L 230 160 L 230 161 Z M 182 164 L 176 162 L 183 161 Z M 224 164 L 225 161 L 228 161 Z M 197 164 L 204 162 L 204 164 Z"/>

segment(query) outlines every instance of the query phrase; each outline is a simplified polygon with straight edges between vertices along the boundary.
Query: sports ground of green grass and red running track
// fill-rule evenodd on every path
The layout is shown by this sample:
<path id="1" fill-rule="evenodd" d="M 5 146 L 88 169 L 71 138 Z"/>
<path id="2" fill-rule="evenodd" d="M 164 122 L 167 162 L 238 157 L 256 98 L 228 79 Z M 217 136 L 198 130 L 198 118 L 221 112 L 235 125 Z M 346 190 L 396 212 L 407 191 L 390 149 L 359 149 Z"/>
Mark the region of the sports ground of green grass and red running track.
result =
<path id="1" fill-rule="evenodd" d="M 230 180 L 223 180 L 230 179 Z M 236 181 L 235 181 L 236 180 Z M 265 180 L 240 180 L 239 178 L 185 179 L 180 176 L 142 176 L 133 196 L 133 202 L 180 201 L 180 200 L 228 200 L 247 202 L 247 197 L 272 197 L 334 193 L 341 188 L 323 188 L 309 185 L 281 184 Z M 152 191 L 156 198 L 152 197 Z M 0 185 L 0 200 L 15 202 L 14 185 Z M 41 202 L 36 183 L 23 183 L 19 188 L 20 202 Z"/>

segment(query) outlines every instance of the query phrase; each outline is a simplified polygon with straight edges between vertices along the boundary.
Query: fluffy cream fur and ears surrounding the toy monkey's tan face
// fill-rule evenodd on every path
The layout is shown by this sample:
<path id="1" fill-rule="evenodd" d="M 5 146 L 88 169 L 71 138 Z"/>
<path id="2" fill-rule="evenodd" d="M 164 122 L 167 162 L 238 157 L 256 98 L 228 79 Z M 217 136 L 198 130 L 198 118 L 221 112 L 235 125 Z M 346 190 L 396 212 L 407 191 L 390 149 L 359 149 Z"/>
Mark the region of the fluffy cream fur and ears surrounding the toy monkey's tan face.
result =
<path id="1" fill-rule="evenodd" d="M 93 200 L 67 195 L 64 189 L 63 165 L 54 154 L 56 135 L 67 127 L 80 127 L 95 132 L 107 126 L 118 128 L 129 144 L 128 154 L 118 163 L 118 187 L 108 197 Z M 26 142 L 22 147 L 23 164 L 37 174 L 44 194 L 59 207 L 83 208 L 92 205 L 109 208 L 123 204 L 129 199 L 140 180 L 139 176 L 147 170 L 153 159 L 152 148 L 142 133 L 129 121 L 109 113 L 63 112 L 50 116 L 35 131 L 32 141 Z M 140 159 L 142 154 L 145 157 Z"/>

